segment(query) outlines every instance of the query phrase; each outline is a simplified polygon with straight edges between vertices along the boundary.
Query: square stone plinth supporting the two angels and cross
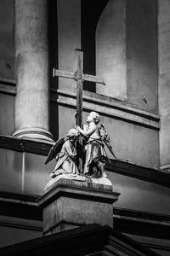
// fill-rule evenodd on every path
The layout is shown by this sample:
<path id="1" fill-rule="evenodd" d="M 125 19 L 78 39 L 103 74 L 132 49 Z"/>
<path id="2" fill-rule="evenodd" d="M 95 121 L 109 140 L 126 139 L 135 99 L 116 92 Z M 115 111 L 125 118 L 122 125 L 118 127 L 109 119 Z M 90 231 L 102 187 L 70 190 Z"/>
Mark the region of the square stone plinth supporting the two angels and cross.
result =
<path id="1" fill-rule="evenodd" d="M 38 201 L 43 209 L 43 234 L 74 229 L 82 224 L 112 227 L 112 204 L 118 195 L 113 192 L 111 184 L 57 177 Z"/>

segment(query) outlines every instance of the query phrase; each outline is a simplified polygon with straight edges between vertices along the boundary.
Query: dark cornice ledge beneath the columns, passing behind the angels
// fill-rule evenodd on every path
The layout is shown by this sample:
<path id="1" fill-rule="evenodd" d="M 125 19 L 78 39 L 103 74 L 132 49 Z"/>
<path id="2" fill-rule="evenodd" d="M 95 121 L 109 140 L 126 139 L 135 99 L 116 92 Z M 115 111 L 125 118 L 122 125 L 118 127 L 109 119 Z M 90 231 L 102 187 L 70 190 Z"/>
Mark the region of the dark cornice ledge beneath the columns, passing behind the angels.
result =
<path id="1" fill-rule="evenodd" d="M 53 144 L 12 136 L 0 136 L 0 148 L 32 154 L 48 155 Z M 106 163 L 105 168 L 108 172 L 116 172 L 127 177 L 135 177 L 170 188 L 170 173 L 162 172 L 160 169 L 139 166 L 126 160 L 111 160 L 111 163 Z"/>

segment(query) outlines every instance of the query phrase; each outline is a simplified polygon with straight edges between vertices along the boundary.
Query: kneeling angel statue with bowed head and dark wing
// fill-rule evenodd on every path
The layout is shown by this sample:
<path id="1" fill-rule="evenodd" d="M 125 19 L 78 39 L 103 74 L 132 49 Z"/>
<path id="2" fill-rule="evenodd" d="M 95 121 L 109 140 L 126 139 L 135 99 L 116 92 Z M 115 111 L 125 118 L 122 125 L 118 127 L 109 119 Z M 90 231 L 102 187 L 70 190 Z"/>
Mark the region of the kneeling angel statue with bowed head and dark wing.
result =
<path id="1" fill-rule="evenodd" d="M 59 138 L 59 140 L 50 149 L 48 158 L 45 164 L 48 164 L 50 160 L 56 158 L 56 166 L 54 171 L 50 174 L 51 178 L 54 178 L 60 174 L 69 175 L 69 177 L 76 177 L 79 175 L 79 171 L 76 165 L 77 159 L 77 149 L 76 141 L 79 136 L 79 132 L 76 129 L 71 129 L 65 141 L 64 137 Z"/>

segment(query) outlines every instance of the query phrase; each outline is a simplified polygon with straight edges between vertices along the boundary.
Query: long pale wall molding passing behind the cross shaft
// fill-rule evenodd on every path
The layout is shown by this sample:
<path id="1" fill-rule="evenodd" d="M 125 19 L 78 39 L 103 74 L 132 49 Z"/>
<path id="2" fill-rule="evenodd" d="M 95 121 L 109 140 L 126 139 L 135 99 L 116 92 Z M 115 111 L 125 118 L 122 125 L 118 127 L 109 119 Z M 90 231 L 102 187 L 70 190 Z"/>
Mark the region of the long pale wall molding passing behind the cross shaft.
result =
<path id="1" fill-rule="evenodd" d="M 51 90 L 51 101 L 76 108 L 76 93 L 66 90 Z M 98 111 L 115 119 L 122 119 L 128 123 L 142 125 L 150 129 L 159 130 L 160 117 L 155 113 L 146 112 L 128 106 L 127 102 L 116 100 L 108 96 L 83 91 L 83 108 Z"/>

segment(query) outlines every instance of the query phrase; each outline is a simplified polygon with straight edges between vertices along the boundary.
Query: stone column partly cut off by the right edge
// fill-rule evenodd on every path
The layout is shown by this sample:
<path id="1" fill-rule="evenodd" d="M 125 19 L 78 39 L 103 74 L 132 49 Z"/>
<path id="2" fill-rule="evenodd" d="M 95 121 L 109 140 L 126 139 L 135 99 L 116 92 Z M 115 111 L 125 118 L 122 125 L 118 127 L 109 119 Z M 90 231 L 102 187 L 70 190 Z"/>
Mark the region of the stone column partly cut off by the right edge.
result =
<path id="1" fill-rule="evenodd" d="M 158 1 L 160 164 L 170 172 L 170 1 Z"/>

